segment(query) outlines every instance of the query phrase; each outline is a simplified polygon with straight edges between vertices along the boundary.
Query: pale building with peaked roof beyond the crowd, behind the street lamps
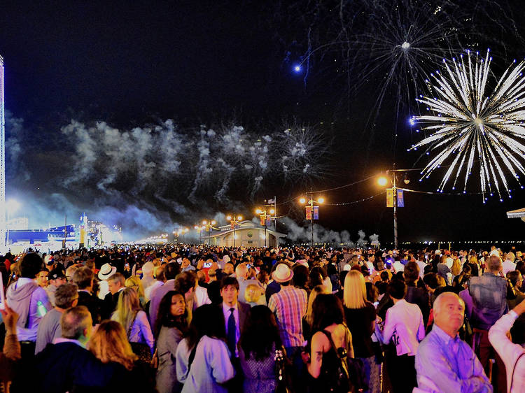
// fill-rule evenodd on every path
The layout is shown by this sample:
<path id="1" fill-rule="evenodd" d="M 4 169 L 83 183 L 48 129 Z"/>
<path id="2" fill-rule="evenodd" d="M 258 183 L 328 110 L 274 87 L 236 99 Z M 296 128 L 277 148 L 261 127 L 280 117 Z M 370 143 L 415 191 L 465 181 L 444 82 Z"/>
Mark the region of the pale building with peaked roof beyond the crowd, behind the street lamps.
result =
<path id="1" fill-rule="evenodd" d="M 218 245 L 221 247 L 265 247 L 265 238 L 267 247 L 275 247 L 279 244 L 279 238 L 285 237 L 268 227 L 255 224 L 245 220 L 239 222 L 235 228 L 231 225 L 218 227 L 217 230 L 204 232 L 202 241 L 207 244 Z"/>

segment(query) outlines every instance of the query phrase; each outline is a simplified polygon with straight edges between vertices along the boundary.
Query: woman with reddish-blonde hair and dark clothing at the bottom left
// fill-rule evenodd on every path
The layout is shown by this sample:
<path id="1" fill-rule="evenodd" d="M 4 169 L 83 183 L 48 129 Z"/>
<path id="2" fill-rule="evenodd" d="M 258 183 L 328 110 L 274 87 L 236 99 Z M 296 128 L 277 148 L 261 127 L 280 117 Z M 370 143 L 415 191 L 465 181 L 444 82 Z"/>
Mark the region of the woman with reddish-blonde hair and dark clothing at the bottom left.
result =
<path id="1" fill-rule="evenodd" d="M 99 324 L 91 336 L 88 348 L 104 364 L 113 366 L 113 377 L 108 391 L 153 392 L 153 381 L 144 378 L 147 370 L 137 362 L 127 341 L 126 331 L 116 322 L 105 320 Z"/>

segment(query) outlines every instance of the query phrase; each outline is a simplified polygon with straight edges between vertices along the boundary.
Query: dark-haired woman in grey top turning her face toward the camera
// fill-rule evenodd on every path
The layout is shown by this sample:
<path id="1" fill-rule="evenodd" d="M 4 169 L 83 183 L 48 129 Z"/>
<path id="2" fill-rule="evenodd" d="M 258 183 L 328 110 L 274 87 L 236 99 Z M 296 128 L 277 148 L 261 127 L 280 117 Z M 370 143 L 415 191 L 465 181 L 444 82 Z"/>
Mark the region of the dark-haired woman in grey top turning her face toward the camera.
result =
<path id="1" fill-rule="evenodd" d="M 157 390 L 159 393 L 181 392 L 182 383 L 177 380 L 175 355 L 183 334 L 188 331 L 188 312 L 184 294 L 169 291 L 160 301 L 155 337 L 159 367 Z"/>

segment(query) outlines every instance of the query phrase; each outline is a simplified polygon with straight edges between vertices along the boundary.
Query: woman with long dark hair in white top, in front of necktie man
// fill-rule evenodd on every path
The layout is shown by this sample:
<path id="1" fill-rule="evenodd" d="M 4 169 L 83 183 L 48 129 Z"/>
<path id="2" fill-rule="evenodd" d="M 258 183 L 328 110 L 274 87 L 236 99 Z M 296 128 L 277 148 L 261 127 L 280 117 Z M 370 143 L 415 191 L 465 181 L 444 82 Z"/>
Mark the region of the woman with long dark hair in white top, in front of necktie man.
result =
<path id="1" fill-rule="evenodd" d="M 204 304 L 193 312 L 186 338 L 176 352 L 177 380 L 182 392 L 227 393 L 223 384 L 235 376 L 225 343 L 223 310 Z"/>

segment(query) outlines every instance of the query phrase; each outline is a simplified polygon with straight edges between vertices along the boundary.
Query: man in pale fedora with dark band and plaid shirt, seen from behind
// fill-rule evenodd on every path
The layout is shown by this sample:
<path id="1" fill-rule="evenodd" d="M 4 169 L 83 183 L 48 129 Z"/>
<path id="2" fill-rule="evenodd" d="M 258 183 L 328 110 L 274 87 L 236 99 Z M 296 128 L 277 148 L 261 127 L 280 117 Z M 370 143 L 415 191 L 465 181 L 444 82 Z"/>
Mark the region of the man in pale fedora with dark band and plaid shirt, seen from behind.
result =
<path id="1" fill-rule="evenodd" d="M 302 317 L 307 310 L 307 292 L 291 285 L 293 271 L 288 264 L 278 264 L 272 273 L 272 278 L 281 285 L 281 290 L 270 296 L 268 307 L 275 313 L 286 354 L 293 362 L 293 373 L 295 374 L 293 380 L 300 383 L 304 371 L 301 358 L 304 345 Z M 300 386 L 296 388 L 297 391 L 302 390 Z"/>

